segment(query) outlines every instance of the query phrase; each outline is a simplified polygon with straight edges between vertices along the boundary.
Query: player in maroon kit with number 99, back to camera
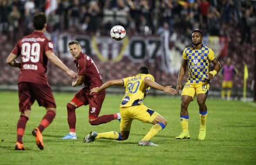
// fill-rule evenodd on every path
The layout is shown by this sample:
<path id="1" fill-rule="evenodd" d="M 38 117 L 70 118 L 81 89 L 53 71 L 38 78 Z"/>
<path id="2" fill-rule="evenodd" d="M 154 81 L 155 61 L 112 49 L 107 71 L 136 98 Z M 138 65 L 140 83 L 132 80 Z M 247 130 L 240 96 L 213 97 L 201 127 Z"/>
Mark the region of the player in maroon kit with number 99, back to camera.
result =
<path id="1" fill-rule="evenodd" d="M 40 125 L 32 131 L 37 146 L 44 149 L 42 131 L 53 121 L 56 114 L 56 104 L 51 87 L 47 81 L 47 61 L 65 71 L 71 78 L 77 74 L 71 71 L 55 56 L 53 42 L 44 36 L 47 27 L 45 13 L 38 13 L 33 17 L 34 32 L 18 41 L 13 51 L 7 57 L 7 63 L 20 68 L 18 78 L 20 119 L 17 123 L 17 143 L 15 150 L 25 150 L 22 137 L 30 116 L 31 105 L 37 100 L 39 106 L 46 108 L 46 114 Z M 15 59 L 20 56 L 21 62 Z"/>

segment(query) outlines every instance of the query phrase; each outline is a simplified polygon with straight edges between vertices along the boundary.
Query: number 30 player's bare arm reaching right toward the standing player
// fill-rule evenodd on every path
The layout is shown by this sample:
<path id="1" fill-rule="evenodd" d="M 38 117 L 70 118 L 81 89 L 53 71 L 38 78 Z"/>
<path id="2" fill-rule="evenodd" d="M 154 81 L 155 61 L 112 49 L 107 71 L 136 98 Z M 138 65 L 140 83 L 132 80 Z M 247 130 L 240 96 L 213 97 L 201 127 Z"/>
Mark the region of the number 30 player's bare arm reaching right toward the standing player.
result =
<path id="1" fill-rule="evenodd" d="M 160 84 L 157 84 L 155 81 L 152 81 L 149 77 L 145 77 L 144 83 L 148 85 L 149 87 L 158 89 L 159 91 L 164 91 L 169 94 L 176 94 L 176 90 L 172 88 L 172 86 L 162 86 Z"/>

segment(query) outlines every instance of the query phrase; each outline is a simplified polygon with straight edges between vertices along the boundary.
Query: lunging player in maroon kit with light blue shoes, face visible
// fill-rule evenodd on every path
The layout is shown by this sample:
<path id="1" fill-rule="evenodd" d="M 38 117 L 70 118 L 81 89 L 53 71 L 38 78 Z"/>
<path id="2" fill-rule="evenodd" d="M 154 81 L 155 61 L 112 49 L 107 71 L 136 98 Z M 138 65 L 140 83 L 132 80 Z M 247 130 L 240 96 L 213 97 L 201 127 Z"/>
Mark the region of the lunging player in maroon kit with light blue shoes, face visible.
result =
<path id="1" fill-rule="evenodd" d="M 78 91 L 74 98 L 67 103 L 67 122 L 70 133 L 61 139 L 77 139 L 75 130 L 76 108 L 89 104 L 89 123 L 91 125 L 108 123 L 114 119 L 120 121 L 121 117 L 120 113 L 99 116 L 106 91 L 103 90 L 99 93 L 90 94 L 92 88 L 100 87 L 103 84 L 98 68 L 94 61 L 82 52 L 78 41 L 71 40 L 68 43 L 68 47 L 71 55 L 75 58 L 74 63 L 76 64 L 78 74 L 77 80 L 72 82 L 72 86 L 76 87 L 84 83 L 85 87 Z"/>

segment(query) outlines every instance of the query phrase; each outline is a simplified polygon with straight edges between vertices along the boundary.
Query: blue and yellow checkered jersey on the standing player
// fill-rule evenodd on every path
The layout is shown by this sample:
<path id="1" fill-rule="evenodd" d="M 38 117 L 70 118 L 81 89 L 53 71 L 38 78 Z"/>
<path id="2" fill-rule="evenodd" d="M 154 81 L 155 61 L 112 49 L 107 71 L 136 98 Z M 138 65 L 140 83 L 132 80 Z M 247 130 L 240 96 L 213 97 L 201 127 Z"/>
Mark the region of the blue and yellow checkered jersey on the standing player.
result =
<path id="1" fill-rule="evenodd" d="M 185 48 L 182 57 L 188 61 L 189 77 L 187 82 L 196 84 L 203 83 L 208 78 L 209 63 L 216 57 L 212 49 L 202 45 L 201 49 L 194 49 L 194 46 Z"/>

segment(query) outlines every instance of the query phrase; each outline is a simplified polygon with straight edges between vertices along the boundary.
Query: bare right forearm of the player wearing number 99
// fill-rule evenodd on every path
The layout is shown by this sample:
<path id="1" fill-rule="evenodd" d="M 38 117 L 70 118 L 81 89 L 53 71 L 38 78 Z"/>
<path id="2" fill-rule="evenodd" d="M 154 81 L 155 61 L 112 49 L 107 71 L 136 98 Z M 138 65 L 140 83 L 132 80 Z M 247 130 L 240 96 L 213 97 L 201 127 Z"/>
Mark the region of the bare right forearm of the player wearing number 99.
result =
<path id="1" fill-rule="evenodd" d="M 55 56 L 54 52 L 46 51 L 45 54 L 49 61 L 51 61 L 51 63 L 65 71 L 67 75 L 69 75 L 71 78 L 77 77 L 77 74 L 74 71 L 70 70 L 57 56 Z"/>

